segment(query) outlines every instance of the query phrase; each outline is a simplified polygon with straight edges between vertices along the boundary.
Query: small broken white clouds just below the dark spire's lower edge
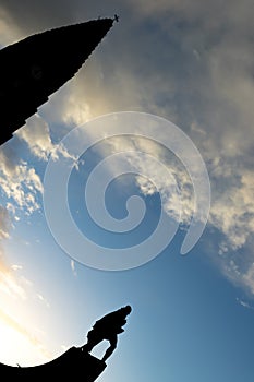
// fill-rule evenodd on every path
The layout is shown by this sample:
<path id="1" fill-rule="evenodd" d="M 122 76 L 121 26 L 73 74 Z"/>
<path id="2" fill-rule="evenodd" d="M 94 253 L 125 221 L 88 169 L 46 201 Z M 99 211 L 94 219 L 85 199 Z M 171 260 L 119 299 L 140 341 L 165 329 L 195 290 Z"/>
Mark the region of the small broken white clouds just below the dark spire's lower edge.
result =
<path id="1" fill-rule="evenodd" d="M 48 124 L 39 116 L 33 116 L 24 128 L 19 129 L 15 136 L 0 148 L 0 189 L 5 198 L 7 208 L 13 214 L 16 210 L 31 215 L 41 208 L 40 196 L 44 193 L 44 184 L 35 168 L 33 157 L 23 159 L 20 142 L 25 141 L 35 159 L 47 163 L 49 157 L 58 160 L 60 156 L 76 162 L 62 144 L 53 143 L 50 138 Z M 19 140 L 16 139 L 19 138 Z"/>

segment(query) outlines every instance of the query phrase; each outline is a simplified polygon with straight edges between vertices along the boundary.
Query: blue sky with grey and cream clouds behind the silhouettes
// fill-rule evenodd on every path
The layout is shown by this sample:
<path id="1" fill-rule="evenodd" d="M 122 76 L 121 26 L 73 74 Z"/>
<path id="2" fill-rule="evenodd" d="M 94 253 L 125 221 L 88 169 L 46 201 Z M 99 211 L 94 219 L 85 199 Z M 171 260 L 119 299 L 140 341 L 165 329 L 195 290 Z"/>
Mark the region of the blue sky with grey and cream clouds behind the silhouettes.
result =
<path id="1" fill-rule="evenodd" d="M 1 47 L 120 16 L 0 147 L 1 362 L 47 362 L 131 305 L 98 381 L 253 381 L 253 11 L 1 1 Z"/>

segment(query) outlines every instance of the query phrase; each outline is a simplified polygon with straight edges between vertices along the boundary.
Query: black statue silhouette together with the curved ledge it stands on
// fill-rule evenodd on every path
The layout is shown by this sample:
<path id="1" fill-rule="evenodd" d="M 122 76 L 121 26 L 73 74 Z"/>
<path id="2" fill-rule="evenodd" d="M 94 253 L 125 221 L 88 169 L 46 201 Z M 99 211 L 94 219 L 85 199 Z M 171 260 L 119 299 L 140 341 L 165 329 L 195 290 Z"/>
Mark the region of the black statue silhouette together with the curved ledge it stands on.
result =
<path id="1" fill-rule="evenodd" d="M 57 375 L 58 381 L 64 381 L 66 375 L 82 378 L 83 382 L 94 382 L 107 368 L 106 359 L 112 354 L 117 346 L 118 334 L 124 332 L 122 326 L 126 323 L 126 315 L 130 314 L 130 306 L 106 314 L 98 320 L 93 330 L 88 332 L 87 344 L 72 346 L 58 358 L 34 367 L 22 367 L 22 365 L 8 366 L 0 363 L 0 374 L 8 381 L 37 381 L 39 379 L 50 380 Z M 108 339 L 111 345 L 102 359 L 89 354 L 90 349 L 100 341 Z"/>

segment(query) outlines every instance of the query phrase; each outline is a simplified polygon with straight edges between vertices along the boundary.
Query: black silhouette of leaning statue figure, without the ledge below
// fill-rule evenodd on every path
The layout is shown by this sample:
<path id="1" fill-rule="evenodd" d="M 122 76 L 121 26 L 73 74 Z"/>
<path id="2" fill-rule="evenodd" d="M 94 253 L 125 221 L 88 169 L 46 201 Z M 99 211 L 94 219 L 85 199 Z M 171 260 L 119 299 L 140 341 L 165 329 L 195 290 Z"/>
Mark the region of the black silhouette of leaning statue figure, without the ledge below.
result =
<path id="1" fill-rule="evenodd" d="M 131 306 L 125 306 L 96 321 L 93 329 L 87 333 L 87 343 L 82 346 L 82 350 L 89 353 L 101 341 L 109 341 L 110 347 L 106 350 L 101 359 L 105 362 L 116 349 L 118 334 L 124 332 L 122 326 L 125 325 L 126 315 L 129 315 L 131 311 Z"/>

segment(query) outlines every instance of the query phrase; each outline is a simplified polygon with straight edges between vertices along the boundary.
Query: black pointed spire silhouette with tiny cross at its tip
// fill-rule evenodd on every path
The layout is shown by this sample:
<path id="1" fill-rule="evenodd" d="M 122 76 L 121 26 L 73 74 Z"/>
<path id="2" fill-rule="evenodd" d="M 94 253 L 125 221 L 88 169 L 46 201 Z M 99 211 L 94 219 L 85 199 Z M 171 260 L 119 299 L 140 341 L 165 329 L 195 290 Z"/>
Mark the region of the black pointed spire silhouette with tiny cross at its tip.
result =
<path id="1" fill-rule="evenodd" d="M 98 19 L 62 26 L 0 50 L 0 145 L 74 76 L 113 22 Z"/>

